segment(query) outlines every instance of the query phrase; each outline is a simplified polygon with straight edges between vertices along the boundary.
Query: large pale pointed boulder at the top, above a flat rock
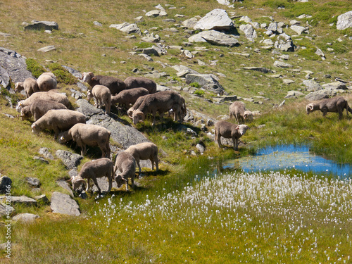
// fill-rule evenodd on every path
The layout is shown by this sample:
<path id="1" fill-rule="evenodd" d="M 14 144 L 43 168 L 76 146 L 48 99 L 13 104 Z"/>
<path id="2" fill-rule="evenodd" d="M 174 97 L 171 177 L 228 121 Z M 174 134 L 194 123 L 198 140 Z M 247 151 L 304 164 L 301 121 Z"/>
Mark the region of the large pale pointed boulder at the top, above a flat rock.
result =
<path id="1" fill-rule="evenodd" d="M 234 23 L 224 9 L 214 9 L 201 18 L 193 27 L 194 30 L 231 30 Z"/>

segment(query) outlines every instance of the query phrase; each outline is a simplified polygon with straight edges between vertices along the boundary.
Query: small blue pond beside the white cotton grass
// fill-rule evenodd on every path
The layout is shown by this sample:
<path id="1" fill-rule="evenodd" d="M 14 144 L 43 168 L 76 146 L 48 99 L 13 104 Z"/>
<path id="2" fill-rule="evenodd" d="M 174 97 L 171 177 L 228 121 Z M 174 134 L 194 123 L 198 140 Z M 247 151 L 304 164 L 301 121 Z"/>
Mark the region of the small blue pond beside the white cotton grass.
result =
<path id="1" fill-rule="evenodd" d="M 315 174 L 335 175 L 340 178 L 352 176 L 351 164 L 339 164 L 309 151 L 308 146 L 279 145 L 259 149 L 256 156 L 239 158 L 222 163 L 224 169 L 241 169 L 245 172 L 265 170 L 301 170 Z"/>

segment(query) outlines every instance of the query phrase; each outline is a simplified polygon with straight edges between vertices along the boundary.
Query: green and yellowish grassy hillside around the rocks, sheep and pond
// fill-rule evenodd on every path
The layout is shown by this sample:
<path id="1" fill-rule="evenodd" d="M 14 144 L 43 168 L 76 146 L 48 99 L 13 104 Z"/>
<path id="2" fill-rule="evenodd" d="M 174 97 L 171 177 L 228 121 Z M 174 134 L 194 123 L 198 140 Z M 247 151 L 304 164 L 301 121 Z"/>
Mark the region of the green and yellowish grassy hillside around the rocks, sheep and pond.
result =
<path id="1" fill-rule="evenodd" d="M 154 6 L 158 4 L 168 13 L 166 18 L 174 18 L 175 23 L 165 22 L 165 18 L 148 18 L 144 15 L 145 12 L 155 9 Z M 351 115 L 346 117 L 344 113 L 342 120 L 338 120 L 335 113 L 329 113 L 326 118 L 323 118 L 321 113 L 306 115 L 307 101 L 303 96 L 298 99 L 286 99 L 283 108 L 273 108 L 284 101 L 284 96 L 291 90 L 308 94 L 302 84 L 303 80 L 306 80 L 308 70 L 313 72 L 311 77 L 315 77 L 320 84 L 334 82 L 338 77 L 349 82 L 347 85 L 351 85 L 352 30 L 336 29 L 337 15 L 351 11 L 351 1 L 310 0 L 301 3 L 289 0 L 244 0 L 233 5 L 233 8 L 222 6 L 215 0 L 58 0 L 55 3 L 5 0 L 0 3 L 0 32 L 10 34 L 0 34 L 0 46 L 32 59 L 48 70 L 57 69 L 58 65 L 66 65 L 81 73 L 92 71 L 95 74 L 120 77 L 122 80 L 135 75 L 132 73 L 135 68 L 142 73 L 154 70 L 165 73 L 162 77 L 154 79 L 158 84 L 181 89 L 180 92 L 187 101 L 187 108 L 212 118 L 228 114 L 230 102 L 217 103 L 216 94 L 202 89 L 196 90 L 196 96 L 187 92 L 191 87 L 184 79 L 177 77 L 176 70 L 171 68 L 173 65 L 185 65 L 199 73 L 218 75 L 227 94 L 237 95 L 242 99 L 253 99 L 246 101 L 246 108 L 261 113 L 249 124 L 251 130 L 241 138 L 244 146 L 240 147 L 239 152 L 232 149 L 219 150 L 206 135 L 207 132 L 201 132 L 199 127 L 191 124 L 186 125 L 197 130 L 199 137 L 193 138 L 178 130 L 177 124 L 170 119 L 156 127 L 151 127 L 150 120 L 144 125 L 138 124 L 137 129 L 165 151 L 165 155 L 161 156 L 161 170 L 158 173 L 147 172 L 142 179 L 137 180 L 139 187 L 133 192 L 126 193 L 124 190 L 114 189 L 112 194 L 103 199 L 95 199 L 92 194 L 89 194 L 86 200 L 76 197 L 75 200 L 80 204 L 82 211 L 79 218 L 51 213 L 47 205 L 14 205 L 15 213 L 36 213 L 41 218 L 33 225 L 20 222 L 13 224 L 12 258 L 7 259 L 3 251 L 0 261 L 351 262 L 351 181 L 335 182 L 320 177 L 317 179 L 311 175 L 306 178 L 298 172 L 292 172 L 289 179 L 286 175 L 272 174 L 251 177 L 239 174 L 235 175 L 234 179 L 229 175 L 232 179 L 229 186 L 232 189 L 239 188 L 238 196 L 232 197 L 232 200 L 241 203 L 229 203 L 228 207 L 225 203 L 222 204 L 222 199 L 225 199 L 227 194 L 222 191 L 225 187 L 221 182 L 225 179 L 218 182 L 215 177 L 213 182 L 207 183 L 214 186 L 213 189 L 204 187 L 205 192 L 197 193 L 193 189 L 201 189 L 199 177 L 211 174 L 214 170 L 213 162 L 249 155 L 259 146 L 266 144 L 309 144 L 313 151 L 334 161 L 352 163 Z M 253 22 L 269 24 L 275 21 L 284 22 L 286 25 L 289 25 L 290 20 L 297 19 L 298 15 L 311 15 L 310 18 L 300 19 L 301 25 L 309 27 L 309 33 L 298 35 L 291 29 L 284 28 L 284 32 L 291 35 L 297 50 L 280 51 L 280 54 L 273 53 L 272 49 L 260 48 L 263 46 L 261 41 L 268 39 L 264 29 L 256 30 L 258 38 L 255 42 L 249 42 L 244 34 L 239 32 L 241 44 L 232 48 L 211 44 L 185 46 L 184 42 L 187 42 L 191 34 L 180 26 L 182 21 L 194 16 L 203 17 L 215 8 L 226 9 L 237 27 L 244 23 L 239 21 L 244 15 Z M 132 54 L 135 48 L 145 48 L 152 44 L 142 42 L 142 37 L 138 35 L 135 35 L 135 39 L 126 38 L 127 34 L 110 28 L 109 25 L 134 23 L 135 18 L 141 15 L 144 20 L 138 23 L 139 28 L 142 32 L 149 30 L 159 34 L 162 44 L 183 46 L 190 51 L 198 51 L 201 47 L 207 51 L 199 51 L 194 58 L 189 59 L 182 55 L 180 50 L 168 49 L 168 53 L 163 56 L 153 56 L 151 62 Z M 184 18 L 176 15 L 184 15 Z M 24 31 L 22 23 L 30 23 L 32 20 L 55 21 L 59 30 L 54 30 L 51 34 L 44 31 Z M 102 27 L 94 25 L 94 21 L 101 23 Z M 49 45 L 56 46 L 56 50 L 48 53 L 37 51 Z M 315 54 L 317 48 L 325 53 L 325 60 Z M 284 62 L 290 63 L 293 68 L 280 69 L 273 65 L 281 55 L 289 56 Z M 199 60 L 206 64 L 200 65 Z M 265 67 L 273 73 L 244 70 L 247 66 Z M 282 77 L 272 77 L 273 74 Z M 284 84 L 283 79 L 294 80 L 294 83 Z M 77 89 L 69 79 L 65 79 L 65 83 L 59 83 L 58 87 L 68 96 L 71 94 L 70 89 Z M 54 135 L 48 132 L 34 135 L 30 129 L 32 121 L 8 118 L 8 115 L 16 116 L 18 113 L 9 106 L 6 95 L 8 93 L 2 89 L 0 173 L 13 180 L 11 194 L 30 197 L 46 194 L 49 199 L 54 191 L 68 194 L 68 191 L 56 184 L 56 180 L 69 178 L 68 170 L 61 161 L 55 159 L 45 164 L 34 160 L 33 157 L 38 156 L 41 147 L 49 148 L 53 154 L 58 149 L 75 153 L 79 153 L 79 149 L 75 148 L 75 144 L 58 144 L 53 139 Z M 343 95 L 352 105 L 349 90 Z M 16 99 L 23 97 L 13 96 L 13 100 Z M 73 98 L 70 97 L 70 100 L 74 103 Z M 126 115 L 120 115 L 120 118 L 131 123 Z M 210 132 L 212 128 L 209 127 Z M 118 146 L 118 142 L 111 143 Z M 191 151 L 196 151 L 197 143 L 204 144 L 206 152 L 192 156 Z M 93 158 L 97 156 L 91 151 L 82 164 Z M 25 182 L 25 177 L 37 177 L 42 182 L 40 191 L 32 191 Z M 249 179 L 249 182 L 246 182 L 245 178 Z M 272 183 L 271 187 L 265 185 L 265 180 L 273 179 L 278 180 Z M 291 188 L 279 196 L 275 190 L 287 190 L 285 184 L 281 184 L 286 181 L 290 186 L 302 187 L 297 188 L 299 191 Z M 251 189 L 253 182 L 262 182 L 263 185 L 253 187 L 251 196 L 245 190 Z M 304 186 L 309 186 L 310 189 L 305 189 Z M 268 192 L 256 193 L 255 190 L 260 187 L 268 188 Z M 218 200 L 215 198 L 212 199 L 217 197 L 217 190 L 224 195 L 219 196 L 219 203 L 216 203 Z M 258 197 L 255 194 L 258 194 Z M 208 196 L 209 201 L 197 200 L 203 196 Z M 253 198 L 254 196 L 256 198 Z M 281 200 L 278 197 L 284 198 Z M 286 209 L 287 215 L 282 213 Z M 298 211 L 301 215 L 296 213 Z M 0 227 L 0 234 L 0 237 L 5 237 L 4 225 Z M 5 239 L 0 240 L 0 243 L 4 242 Z M 310 250 L 313 248 L 315 250 Z"/>

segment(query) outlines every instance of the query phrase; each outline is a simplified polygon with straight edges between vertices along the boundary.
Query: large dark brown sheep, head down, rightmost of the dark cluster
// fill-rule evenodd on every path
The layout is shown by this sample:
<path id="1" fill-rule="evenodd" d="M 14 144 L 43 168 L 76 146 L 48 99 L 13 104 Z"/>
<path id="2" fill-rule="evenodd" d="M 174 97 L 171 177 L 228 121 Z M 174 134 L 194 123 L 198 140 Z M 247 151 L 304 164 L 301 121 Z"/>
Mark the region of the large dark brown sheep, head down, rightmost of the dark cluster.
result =
<path id="1" fill-rule="evenodd" d="M 177 94 L 177 92 L 171 90 L 158 92 L 156 94 L 147 94 L 139 108 L 132 112 L 132 120 L 134 125 L 136 125 L 137 122 L 142 122 L 148 113 L 153 115 L 152 125 L 155 125 L 156 112 L 163 114 L 172 109 L 175 113 L 178 113 L 181 107 L 180 97 L 180 94 Z"/>

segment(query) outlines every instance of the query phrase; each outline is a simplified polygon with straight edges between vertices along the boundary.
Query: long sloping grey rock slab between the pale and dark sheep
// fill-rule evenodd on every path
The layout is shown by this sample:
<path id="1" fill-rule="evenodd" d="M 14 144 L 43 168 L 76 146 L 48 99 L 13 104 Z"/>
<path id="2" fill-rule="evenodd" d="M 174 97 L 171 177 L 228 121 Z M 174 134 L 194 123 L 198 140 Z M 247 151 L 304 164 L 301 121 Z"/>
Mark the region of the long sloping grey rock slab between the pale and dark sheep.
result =
<path id="1" fill-rule="evenodd" d="M 106 115 L 101 111 L 101 109 L 92 106 L 87 100 L 80 99 L 76 101 L 79 108 L 77 111 L 84 113 L 84 115 L 89 116 L 87 124 L 100 125 L 105 127 L 111 132 L 111 139 L 115 142 L 118 142 L 123 146 L 124 149 L 127 149 L 129 146 L 134 144 L 139 144 L 142 142 L 149 142 L 144 135 L 139 132 L 137 129 L 131 125 L 123 125 L 123 120 L 120 120 L 116 117 L 116 120 L 111 118 L 109 115 Z M 94 111 L 94 109 L 99 111 Z M 119 122 L 119 120 L 121 122 Z"/>

